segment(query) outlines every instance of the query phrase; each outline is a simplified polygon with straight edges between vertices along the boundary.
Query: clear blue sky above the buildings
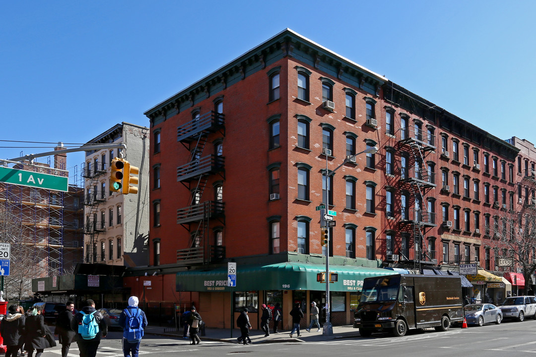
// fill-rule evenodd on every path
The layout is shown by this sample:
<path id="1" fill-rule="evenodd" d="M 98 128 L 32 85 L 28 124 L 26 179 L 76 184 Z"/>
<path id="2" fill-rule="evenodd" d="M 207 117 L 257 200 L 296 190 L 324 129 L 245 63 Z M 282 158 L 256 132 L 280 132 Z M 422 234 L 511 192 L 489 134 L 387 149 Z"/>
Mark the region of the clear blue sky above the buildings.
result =
<path id="1" fill-rule="evenodd" d="M 144 111 L 288 27 L 501 139 L 536 143 L 534 13 L 534 1 L 494 0 L 4 1 L 0 140 L 148 126 Z M 0 146 L 0 158 L 50 150 Z M 83 160 L 68 154 L 69 169 Z"/>

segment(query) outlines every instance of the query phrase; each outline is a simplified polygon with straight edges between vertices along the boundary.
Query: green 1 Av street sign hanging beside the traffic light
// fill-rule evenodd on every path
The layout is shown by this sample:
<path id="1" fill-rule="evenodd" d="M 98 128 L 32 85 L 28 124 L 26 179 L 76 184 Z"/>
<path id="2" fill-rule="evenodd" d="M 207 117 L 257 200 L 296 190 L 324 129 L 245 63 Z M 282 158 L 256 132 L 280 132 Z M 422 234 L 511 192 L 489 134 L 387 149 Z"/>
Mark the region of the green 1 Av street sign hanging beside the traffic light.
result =
<path id="1" fill-rule="evenodd" d="M 69 178 L 48 173 L 4 168 L 0 166 L 0 182 L 13 185 L 69 191 Z"/>

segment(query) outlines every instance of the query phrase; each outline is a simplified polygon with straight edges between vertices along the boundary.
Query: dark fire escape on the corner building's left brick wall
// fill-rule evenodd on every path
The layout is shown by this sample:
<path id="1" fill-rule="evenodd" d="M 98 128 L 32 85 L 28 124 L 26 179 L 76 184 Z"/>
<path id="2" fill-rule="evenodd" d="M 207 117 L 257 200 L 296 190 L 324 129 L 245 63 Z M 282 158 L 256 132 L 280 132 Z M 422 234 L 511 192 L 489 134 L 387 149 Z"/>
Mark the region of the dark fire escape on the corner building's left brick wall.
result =
<path id="1" fill-rule="evenodd" d="M 225 136 L 225 116 L 210 111 L 177 127 L 177 141 L 190 151 L 188 163 L 178 166 L 177 181 L 188 188 L 191 198 L 188 206 L 177 209 L 177 224 L 190 234 L 188 247 L 177 250 L 177 264 L 209 264 L 225 258 L 225 247 L 210 244 L 209 223 L 217 219 L 225 225 L 222 192 L 217 190 L 214 200 L 205 200 L 209 178 L 219 175 L 225 179 L 225 161 L 221 152 L 205 150 L 209 134 L 220 132 Z M 221 188 L 220 188 L 221 189 Z"/>

